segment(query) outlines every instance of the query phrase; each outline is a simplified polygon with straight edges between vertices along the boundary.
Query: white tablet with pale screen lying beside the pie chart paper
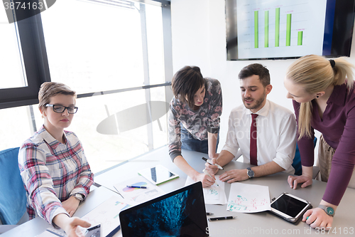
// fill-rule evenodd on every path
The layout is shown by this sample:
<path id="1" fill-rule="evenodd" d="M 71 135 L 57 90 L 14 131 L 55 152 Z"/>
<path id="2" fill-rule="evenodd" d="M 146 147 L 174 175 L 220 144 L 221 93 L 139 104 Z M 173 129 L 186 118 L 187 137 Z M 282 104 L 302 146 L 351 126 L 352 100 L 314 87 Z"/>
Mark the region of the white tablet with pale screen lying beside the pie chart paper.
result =
<path id="1" fill-rule="evenodd" d="M 151 167 L 148 169 L 143 169 L 138 172 L 141 176 L 145 177 L 152 184 L 158 185 L 163 184 L 166 181 L 170 181 L 171 179 L 178 178 L 178 174 L 174 174 L 170 172 L 167 168 L 163 167 L 163 165 L 158 164 L 155 167 Z"/>

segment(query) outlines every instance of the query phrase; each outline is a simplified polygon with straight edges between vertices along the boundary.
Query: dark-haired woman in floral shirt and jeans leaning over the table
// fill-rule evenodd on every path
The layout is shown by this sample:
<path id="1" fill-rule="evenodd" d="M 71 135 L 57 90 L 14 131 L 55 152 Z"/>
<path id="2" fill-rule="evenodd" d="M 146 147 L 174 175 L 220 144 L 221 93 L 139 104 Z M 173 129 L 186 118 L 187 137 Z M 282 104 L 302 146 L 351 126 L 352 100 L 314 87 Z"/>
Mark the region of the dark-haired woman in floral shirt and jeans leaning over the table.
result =
<path id="1" fill-rule="evenodd" d="M 172 88 L 175 96 L 168 115 L 170 158 L 194 181 L 211 186 L 214 179 L 193 169 L 182 157 L 181 148 L 217 158 L 221 84 L 216 79 L 203 78 L 200 68 L 185 66 L 175 73 Z"/>

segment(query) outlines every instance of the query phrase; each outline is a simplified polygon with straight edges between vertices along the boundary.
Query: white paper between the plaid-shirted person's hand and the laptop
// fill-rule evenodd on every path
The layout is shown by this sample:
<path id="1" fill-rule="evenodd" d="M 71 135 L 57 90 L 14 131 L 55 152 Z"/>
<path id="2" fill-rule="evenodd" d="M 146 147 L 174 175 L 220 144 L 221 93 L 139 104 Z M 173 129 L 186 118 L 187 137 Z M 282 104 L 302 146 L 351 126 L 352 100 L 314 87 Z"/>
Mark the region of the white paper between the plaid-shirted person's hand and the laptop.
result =
<path id="1" fill-rule="evenodd" d="M 135 203 L 129 201 L 122 202 L 121 197 L 111 196 L 110 199 L 82 216 L 82 220 L 91 223 L 92 226 L 101 223 L 102 237 L 105 237 L 112 231 L 119 231 L 119 213 L 134 205 Z"/>

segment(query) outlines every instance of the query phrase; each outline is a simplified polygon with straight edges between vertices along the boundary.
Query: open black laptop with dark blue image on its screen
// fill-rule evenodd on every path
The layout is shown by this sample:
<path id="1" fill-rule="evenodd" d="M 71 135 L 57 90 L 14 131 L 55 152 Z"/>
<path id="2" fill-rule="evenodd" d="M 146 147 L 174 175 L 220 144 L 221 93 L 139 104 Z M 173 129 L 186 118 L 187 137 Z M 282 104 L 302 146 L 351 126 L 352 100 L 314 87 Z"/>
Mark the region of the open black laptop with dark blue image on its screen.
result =
<path id="1" fill-rule="evenodd" d="M 119 219 L 123 237 L 209 236 L 201 182 L 125 209 Z"/>

